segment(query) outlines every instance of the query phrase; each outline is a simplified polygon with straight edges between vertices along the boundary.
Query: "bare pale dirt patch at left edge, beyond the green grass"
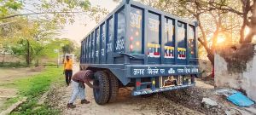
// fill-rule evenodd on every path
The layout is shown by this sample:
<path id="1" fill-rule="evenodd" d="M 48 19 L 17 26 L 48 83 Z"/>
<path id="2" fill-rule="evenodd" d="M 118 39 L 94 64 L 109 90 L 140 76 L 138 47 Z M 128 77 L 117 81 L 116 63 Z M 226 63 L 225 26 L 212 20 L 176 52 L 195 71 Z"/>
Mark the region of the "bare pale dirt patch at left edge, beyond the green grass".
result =
<path id="1" fill-rule="evenodd" d="M 4 84 L 11 83 L 17 78 L 38 74 L 41 71 L 42 68 L 0 68 L 0 108 L 9 98 L 17 96 L 17 89 L 6 88 Z"/>

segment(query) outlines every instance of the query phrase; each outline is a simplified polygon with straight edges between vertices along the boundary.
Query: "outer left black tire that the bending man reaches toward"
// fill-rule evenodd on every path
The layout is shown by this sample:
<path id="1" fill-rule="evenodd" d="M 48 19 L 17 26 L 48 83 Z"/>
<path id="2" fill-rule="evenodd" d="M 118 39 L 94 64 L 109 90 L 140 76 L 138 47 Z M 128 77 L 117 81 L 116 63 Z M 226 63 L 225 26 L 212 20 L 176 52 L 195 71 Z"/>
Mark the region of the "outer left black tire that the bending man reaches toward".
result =
<path id="1" fill-rule="evenodd" d="M 96 103 L 99 105 L 107 103 L 109 98 L 109 81 L 107 73 L 102 71 L 96 72 L 93 85 L 99 87 L 99 89 L 93 89 L 93 95 Z"/>

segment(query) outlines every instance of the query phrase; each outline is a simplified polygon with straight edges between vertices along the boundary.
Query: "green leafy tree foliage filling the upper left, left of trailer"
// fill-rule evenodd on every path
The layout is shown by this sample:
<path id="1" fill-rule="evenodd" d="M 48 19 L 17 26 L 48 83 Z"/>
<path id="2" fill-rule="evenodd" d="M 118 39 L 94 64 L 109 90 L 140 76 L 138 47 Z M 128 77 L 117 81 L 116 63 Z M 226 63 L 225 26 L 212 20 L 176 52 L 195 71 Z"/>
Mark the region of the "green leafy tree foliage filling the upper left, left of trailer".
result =
<path id="1" fill-rule="evenodd" d="M 79 15 L 98 21 L 107 13 L 90 6 L 89 0 L 0 0 L 0 53 L 20 55 L 27 65 L 42 57 L 57 57 L 56 49 L 71 53 L 75 44 L 56 38 L 61 28 Z"/>

